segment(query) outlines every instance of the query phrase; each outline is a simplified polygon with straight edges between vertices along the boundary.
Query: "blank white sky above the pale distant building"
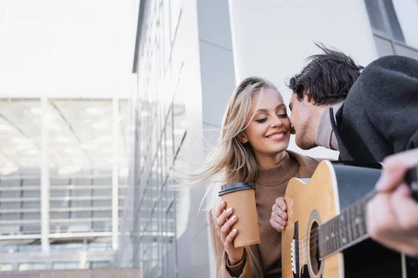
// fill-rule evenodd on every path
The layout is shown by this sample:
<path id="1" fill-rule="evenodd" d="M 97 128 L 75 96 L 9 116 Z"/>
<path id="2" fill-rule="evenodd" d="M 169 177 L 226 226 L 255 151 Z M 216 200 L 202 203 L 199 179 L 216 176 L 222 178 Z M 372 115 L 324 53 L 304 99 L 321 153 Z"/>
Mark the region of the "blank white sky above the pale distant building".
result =
<path id="1" fill-rule="evenodd" d="M 0 0 L 0 97 L 130 95 L 139 0 Z"/>

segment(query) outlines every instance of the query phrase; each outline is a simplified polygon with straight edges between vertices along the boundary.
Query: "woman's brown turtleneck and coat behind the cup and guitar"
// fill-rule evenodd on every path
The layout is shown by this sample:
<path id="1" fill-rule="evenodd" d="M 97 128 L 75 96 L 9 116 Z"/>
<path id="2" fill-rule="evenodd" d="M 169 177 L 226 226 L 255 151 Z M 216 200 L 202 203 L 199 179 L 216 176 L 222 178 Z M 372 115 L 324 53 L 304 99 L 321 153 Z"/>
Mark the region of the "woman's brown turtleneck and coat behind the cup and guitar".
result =
<path id="1" fill-rule="evenodd" d="M 245 247 L 240 263 L 228 265 L 227 254 L 216 234 L 213 219 L 210 220 L 217 277 L 281 277 L 281 233 L 270 224 L 272 206 L 278 197 L 284 196 L 291 178 L 309 178 L 317 165 L 314 158 L 287 151 L 276 167 L 257 168 L 255 195 L 261 243 Z"/>

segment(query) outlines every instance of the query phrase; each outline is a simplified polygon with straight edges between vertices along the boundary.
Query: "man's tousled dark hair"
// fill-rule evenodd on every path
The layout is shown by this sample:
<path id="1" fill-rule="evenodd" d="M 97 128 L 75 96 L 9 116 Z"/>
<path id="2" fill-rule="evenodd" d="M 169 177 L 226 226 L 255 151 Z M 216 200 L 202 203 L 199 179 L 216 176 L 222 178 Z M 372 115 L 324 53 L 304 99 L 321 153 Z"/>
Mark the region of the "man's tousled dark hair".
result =
<path id="1" fill-rule="evenodd" d="M 335 104 L 347 97 L 348 91 L 364 69 L 354 60 L 336 49 L 315 43 L 324 54 L 309 56 L 300 74 L 295 74 L 288 83 L 297 99 L 311 95 L 316 105 Z"/>

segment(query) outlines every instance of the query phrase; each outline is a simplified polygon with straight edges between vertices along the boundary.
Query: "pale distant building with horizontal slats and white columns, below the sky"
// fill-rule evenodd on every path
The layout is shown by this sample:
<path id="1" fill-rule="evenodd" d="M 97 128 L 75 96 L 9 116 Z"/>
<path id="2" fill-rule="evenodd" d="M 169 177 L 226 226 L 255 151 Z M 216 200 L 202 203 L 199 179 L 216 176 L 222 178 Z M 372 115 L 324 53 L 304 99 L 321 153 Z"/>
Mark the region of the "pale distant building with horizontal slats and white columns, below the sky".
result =
<path id="1" fill-rule="evenodd" d="M 0 110 L 0 270 L 111 267 L 127 99 L 8 98 Z"/>

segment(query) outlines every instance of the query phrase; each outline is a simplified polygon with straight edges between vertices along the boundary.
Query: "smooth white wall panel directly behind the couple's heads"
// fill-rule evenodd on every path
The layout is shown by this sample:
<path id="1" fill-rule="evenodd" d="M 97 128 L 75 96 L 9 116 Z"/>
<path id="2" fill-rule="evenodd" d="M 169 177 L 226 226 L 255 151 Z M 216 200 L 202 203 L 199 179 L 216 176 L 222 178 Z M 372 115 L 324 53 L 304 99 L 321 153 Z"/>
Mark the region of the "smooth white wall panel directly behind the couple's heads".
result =
<path id="1" fill-rule="evenodd" d="M 300 72 L 304 59 L 319 53 L 313 41 L 323 42 L 366 65 L 378 57 L 363 0 L 286 1 L 229 0 L 235 79 L 263 76 L 275 83 L 288 104 L 285 80 Z M 336 158 L 323 148 L 302 151 L 314 157 Z"/>

